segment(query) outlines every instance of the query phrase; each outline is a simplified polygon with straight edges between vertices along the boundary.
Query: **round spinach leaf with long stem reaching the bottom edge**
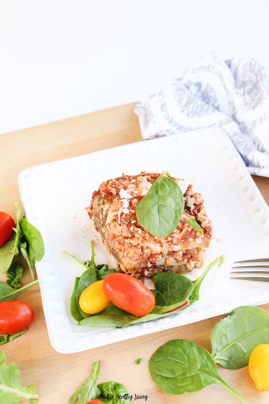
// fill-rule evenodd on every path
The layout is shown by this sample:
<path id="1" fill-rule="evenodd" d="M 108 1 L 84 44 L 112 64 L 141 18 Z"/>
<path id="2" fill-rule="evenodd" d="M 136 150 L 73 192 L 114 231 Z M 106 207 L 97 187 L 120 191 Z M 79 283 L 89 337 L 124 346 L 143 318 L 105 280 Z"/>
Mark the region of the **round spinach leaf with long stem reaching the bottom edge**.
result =
<path id="1" fill-rule="evenodd" d="M 215 383 L 247 404 L 221 379 L 211 354 L 186 339 L 174 339 L 159 347 L 151 356 L 148 367 L 154 383 L 167 394 L 193 393 Z"/>

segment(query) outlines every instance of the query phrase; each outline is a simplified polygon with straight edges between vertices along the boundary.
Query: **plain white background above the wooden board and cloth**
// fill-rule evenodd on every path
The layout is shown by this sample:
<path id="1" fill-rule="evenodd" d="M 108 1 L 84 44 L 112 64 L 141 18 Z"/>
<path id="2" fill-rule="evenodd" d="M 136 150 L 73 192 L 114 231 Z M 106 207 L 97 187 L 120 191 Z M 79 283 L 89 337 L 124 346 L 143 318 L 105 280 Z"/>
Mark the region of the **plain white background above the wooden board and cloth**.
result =
<path id="1" fill-rule="evenodd" d="M 0 133 L 155 93 L 196 59 L 269 68 L 267 0 L 0 0 Z"/>

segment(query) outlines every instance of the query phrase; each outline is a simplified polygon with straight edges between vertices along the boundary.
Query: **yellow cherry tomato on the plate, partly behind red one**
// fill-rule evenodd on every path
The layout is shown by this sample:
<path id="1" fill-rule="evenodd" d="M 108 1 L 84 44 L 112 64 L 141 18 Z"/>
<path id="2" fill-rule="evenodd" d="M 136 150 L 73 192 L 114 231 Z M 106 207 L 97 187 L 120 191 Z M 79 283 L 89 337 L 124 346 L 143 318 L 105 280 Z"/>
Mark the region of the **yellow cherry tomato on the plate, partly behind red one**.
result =
<path id="1" fill-rule="evenodd" d="M 110 303 L 110 300 L 104 292 L 103 282 L 104 280 L 98 280 L 81 293 L 79 306 L 85 313 L 99 313 L 99 311 L 104 310 Z"/>

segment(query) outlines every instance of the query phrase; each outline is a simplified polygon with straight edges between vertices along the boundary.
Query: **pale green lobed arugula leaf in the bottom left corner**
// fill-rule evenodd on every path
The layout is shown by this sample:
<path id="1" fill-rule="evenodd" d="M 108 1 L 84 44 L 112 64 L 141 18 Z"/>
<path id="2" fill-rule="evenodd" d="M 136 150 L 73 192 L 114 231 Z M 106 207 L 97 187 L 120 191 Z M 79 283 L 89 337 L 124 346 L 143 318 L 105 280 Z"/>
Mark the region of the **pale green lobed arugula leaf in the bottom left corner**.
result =
<path id="1" fill-rule="evenodd" d="M 39 396 L 35 394 L 35 388 L 31 384 L 29 387 L 22 387 L 20 383 L 20 372 L 13 363 L 5 365 L 6 357 L 3 351 L 0 352 L 0 398 L 1 404 L 18 404 L 20 397 L 30 400 L 31 404 L 38 402 Z"/>

